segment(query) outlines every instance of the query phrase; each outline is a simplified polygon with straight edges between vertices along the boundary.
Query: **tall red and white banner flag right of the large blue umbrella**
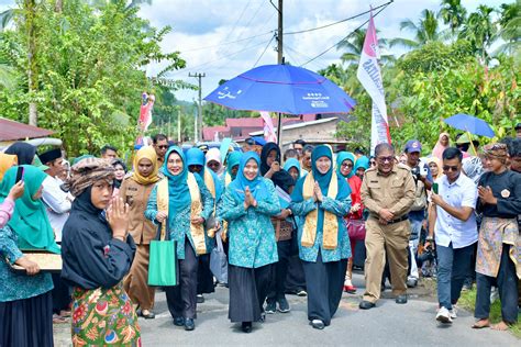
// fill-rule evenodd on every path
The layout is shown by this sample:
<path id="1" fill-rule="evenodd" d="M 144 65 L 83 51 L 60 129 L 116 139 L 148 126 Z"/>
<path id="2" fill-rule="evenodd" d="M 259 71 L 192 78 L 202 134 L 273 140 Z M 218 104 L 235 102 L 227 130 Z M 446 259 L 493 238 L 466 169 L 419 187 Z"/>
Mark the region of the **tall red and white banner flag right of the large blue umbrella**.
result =
<path id="1" fill-rule="evenodd" d="M 369 19 L 369 26 L 365 35 L 364 48 L 362 49 L 361 61 L 356 77 L 364 89 L 373 99 L 372 121 L 370 121 L 370 153 L 374 154 L 376 145 L 380 143 L 391 143 L 389 123 L 387 121 L 387 107 L 384 93 L 384 81 L 381 79 L 380 66 L 378 65 L 378 38 L 376 37 L 373 13 Z"/>

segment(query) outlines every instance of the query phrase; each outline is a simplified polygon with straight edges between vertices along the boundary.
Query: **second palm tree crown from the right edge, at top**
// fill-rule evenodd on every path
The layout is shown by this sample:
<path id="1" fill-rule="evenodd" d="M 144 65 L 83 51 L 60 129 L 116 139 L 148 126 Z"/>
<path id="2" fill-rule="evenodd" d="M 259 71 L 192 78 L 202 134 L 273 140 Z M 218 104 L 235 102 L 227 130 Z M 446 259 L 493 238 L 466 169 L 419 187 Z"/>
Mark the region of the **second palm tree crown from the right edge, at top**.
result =
<path id="1" fill-rule="evenodd" d="M 465 26 L 459 33 L 461 38 L 465 38 L 470 42 L 475 53 L 480 56 L 483 63 L 487 61 L 487 48 L 490 47 L 497 37 L 497 29 L 491 18 L 492 12 L 492 8 L 480 4 L 476 12 L 473 12 L 470 15 L 468 15 Z"/>

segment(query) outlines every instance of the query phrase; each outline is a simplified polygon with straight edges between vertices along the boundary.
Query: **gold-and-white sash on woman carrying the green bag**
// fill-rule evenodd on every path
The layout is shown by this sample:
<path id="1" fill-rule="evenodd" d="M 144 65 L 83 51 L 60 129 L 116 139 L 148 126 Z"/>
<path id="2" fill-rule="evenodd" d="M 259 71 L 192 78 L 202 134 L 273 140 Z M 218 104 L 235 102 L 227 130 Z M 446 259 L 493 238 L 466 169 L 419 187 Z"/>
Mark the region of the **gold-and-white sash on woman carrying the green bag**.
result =
<path id="1" fill-rule="evenodd" d="M 191 205 L 190 217 L 198 217 L 202 212 L 201 192 L 197 184 L 193 174 L 188 172 L 188 189 L 190 190 Z M 164 178 L 157 183 L 157 211 L 166 211 L 168 213 L 168 179 Z M 162 226 L 162 239 L 166 232 L 166 223 Z M 196 248 L 196 254 L 207 254 L 207 244 L 204 243 L 204 226 L 202 224 L 190 223 L 190 234 Z"/>

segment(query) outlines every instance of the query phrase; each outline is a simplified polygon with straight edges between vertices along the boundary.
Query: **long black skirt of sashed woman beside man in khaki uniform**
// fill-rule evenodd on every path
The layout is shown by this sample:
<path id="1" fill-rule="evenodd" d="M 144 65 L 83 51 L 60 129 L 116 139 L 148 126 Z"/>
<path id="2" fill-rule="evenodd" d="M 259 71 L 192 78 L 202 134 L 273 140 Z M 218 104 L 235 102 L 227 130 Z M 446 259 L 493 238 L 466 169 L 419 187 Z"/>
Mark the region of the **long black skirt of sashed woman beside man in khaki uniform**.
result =
<path id="1" fill-rule="evenodd" d="M 319 250 L 317 262 L 302 261 L 302 266 L 308 284 L 308 320 L 330 325 L 342 299 L 347 259 L 323 262 Z"/>

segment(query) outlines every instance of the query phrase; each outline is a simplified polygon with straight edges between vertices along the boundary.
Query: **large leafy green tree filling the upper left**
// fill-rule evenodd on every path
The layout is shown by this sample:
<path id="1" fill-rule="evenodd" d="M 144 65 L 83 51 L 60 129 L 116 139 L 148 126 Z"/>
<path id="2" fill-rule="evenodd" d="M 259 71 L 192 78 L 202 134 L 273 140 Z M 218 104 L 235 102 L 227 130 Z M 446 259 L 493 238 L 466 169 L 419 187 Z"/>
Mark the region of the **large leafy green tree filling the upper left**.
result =
<path id="1" fill-rule="evenodd" d="M 42 1 L 38 25 L 38 125 L 55 130 L 71 156 L 97 153 L 107 143 L 129 148 L 137 131 L 140 97 L 154 91 L 144 67 L 165 61 L 184 67 L 178 53 L 163 54 L 159 43 L 169 27 L 153 29 L 125 1 L 92 7 L 85 1 Z M 26 66 L 27 33 L 18 25 L 4 33 L 0 54 L 20 71 Z M 19 119 L 27 109 L 26 77 L 15 90 L 0 89 L 2 114 Z M 23 119 L 22 119 L 23 120 Z"/>

